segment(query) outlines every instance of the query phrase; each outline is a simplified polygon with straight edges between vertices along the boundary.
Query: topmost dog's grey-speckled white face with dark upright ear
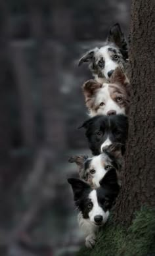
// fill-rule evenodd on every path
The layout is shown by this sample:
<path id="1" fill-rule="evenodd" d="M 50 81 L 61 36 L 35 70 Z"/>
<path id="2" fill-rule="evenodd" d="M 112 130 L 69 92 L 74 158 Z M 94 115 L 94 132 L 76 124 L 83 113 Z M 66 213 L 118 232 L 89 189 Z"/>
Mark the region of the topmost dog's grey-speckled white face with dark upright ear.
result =
<path id="1" fill-rule="evenodd" d="M 112 72 L 117 67 L 125 68 L 127 63 L 127 42 L 119 24 L 115 24 L 110 28 L 108 38 L 104 46 L 92 49 L 87 52 L 80 60 L 82 63 L 89 63 L 89 68 L 95 80 L 100 82 L 100 78 L 109 80 Z"/>

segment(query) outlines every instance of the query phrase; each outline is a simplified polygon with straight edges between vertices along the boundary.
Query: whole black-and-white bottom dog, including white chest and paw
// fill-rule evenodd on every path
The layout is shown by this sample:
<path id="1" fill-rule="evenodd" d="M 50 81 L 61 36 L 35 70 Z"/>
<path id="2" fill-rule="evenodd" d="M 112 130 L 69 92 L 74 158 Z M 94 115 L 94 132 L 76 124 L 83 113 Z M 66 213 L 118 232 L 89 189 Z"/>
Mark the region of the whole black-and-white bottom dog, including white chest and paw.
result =
<path id="1" fill-rule="evenodd" d="M 120 191 L 116 170 L 109 170 L 96 190 L 77 178 L 68 178 L 68 183 L 72 186 L 74 201 L 79 209 L 78 223 L 85 233 L 85 245 L 92 248 L 96 242 L 96 233 L 108 220 L 110 209 Z"/>

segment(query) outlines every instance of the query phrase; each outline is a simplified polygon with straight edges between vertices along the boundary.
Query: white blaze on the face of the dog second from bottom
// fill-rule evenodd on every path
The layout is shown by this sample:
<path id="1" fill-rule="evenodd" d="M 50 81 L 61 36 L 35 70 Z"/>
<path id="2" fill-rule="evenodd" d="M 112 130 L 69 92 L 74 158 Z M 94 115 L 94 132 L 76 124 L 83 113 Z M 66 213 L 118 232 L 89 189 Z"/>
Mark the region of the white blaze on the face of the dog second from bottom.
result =
<path id="1" fill-rule="evenodd" d="M 104 169 L 103 166 L 103 159 L 104 157 L 102 155 L 97 155 L 97 157 L 93 157 L 92 161 L 91 161 L 91 166 L 90 166 L 90 170 L 94 169 L 95 170 L 95 174 L 91 174 L 92 178 L 92 182 L 95 186 L 99 187 L 100 184 L 100 180 L 102 180 L 102 178 L 104 177 L 104 175 L 106 174 L 106 170 Z"/>

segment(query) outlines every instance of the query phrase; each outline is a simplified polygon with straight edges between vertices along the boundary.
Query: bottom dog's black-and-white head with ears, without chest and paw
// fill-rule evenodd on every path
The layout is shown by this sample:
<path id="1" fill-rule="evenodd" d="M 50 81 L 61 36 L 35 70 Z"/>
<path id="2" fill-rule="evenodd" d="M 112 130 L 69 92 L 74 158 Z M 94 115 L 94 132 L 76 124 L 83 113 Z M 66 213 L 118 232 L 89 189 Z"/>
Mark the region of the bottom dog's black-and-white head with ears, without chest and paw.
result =
<path id="1" fill-rule="evenodd" d="M 112 203 L 120 190 L 116 170 L 109 170 L 96 190 L 92 190 L 83 180 L 69 178 L 68 182 L 72 186 L 74 201 L 83 218 L 89 219 L 96 226 L 102 226 L 108 219 Z"/>

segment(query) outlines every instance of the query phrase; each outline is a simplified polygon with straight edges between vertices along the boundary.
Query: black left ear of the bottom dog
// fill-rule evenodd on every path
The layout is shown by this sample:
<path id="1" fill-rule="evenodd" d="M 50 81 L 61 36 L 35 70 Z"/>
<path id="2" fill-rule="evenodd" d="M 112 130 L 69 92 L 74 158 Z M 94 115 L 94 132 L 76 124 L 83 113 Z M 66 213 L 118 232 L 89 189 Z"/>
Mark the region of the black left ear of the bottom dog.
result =
<path id="1" fill-rule="evenodd" d="M 68 183 L 72 186 L 75 201 L 79 199 L 85 190 L 91 188 L 89 184 L 78 178 L 68 178 Z"/>

